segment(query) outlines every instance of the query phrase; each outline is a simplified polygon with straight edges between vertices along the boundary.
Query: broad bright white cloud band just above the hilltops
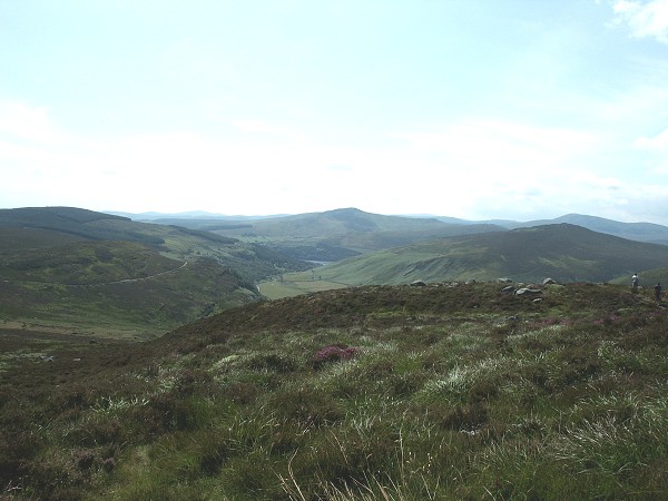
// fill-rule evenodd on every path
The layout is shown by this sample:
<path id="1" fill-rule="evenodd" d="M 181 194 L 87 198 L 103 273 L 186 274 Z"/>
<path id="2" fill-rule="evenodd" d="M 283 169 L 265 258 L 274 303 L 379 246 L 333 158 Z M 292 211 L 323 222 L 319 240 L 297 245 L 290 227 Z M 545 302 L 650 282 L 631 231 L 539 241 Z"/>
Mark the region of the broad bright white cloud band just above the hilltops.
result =
<path id="1" fill-rule="evenodd" d="M 623 169 L 602 165 L 596 157 L 611 149 L 610 138 L 586 130 L 471 119 L 353 146 L 289 137 L 261 121 L 233 136 L 173 131 L 91 139 L 56 127 L 43 110 L 12 109 L 14 122 L 0 116 L 6 207 L 294 214 L 354 206 L 523 220 L 572 212 L 638 220 L 638 214 L 656 213 L 654 220 L 661 220 L 655 206 L 644 207 L 665 200 L 664 188 L 649 191 L 644 186 L 650 181 L 628 180 Z M 666 131 L 641 138 L 636 153 L 656 156 L 667 141 Z"/>

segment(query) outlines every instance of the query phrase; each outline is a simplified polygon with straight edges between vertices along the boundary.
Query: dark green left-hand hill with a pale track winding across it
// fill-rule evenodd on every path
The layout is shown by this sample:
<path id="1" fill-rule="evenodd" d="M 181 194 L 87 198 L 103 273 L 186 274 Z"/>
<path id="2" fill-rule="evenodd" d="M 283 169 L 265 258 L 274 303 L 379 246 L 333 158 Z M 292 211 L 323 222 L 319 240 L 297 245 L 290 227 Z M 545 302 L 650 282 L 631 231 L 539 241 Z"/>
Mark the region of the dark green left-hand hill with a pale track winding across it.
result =
<path id="1" fill-rule="evenodd" d="M 0 210 L 0 327 L 156 336 L 304 269 L 256 244 L 72 207 Z"/>

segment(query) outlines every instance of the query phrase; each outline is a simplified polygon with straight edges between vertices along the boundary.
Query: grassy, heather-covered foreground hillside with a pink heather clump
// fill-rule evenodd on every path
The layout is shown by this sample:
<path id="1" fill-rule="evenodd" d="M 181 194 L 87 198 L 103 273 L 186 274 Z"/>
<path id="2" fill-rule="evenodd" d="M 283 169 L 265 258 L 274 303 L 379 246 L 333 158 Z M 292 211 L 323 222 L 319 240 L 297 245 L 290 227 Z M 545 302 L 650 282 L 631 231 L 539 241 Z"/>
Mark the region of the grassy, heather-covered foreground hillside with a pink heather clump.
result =
<path id="1" fill-rule="evenodd" d="M 77 363 L 13 358 L 2 492 L 666 498 L 665 311 L 621 286 L 554 286 L 540 302 L 501 288 L 331 291 Z"/>

